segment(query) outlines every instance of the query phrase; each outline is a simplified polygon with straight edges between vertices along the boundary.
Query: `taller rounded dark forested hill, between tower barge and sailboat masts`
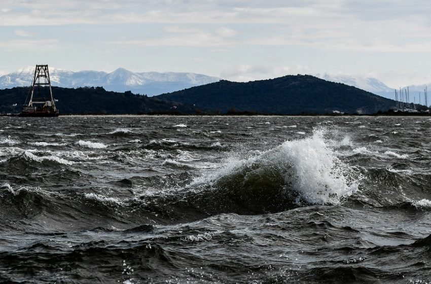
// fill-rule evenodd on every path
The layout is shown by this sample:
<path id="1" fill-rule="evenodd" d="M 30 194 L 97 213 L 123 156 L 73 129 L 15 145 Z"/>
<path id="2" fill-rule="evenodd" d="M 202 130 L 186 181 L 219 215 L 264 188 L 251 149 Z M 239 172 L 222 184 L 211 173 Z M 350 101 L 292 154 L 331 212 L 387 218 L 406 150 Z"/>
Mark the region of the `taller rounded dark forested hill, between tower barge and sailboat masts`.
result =
<path id="1" fill-rule="evenodd" d="M 308 75 L 247 83 L 222 80 L 156 97 L 221 113 L 325 114 L 340 111 L 372 114 L 395 105 L 393 100 L 370 92 Z"/>

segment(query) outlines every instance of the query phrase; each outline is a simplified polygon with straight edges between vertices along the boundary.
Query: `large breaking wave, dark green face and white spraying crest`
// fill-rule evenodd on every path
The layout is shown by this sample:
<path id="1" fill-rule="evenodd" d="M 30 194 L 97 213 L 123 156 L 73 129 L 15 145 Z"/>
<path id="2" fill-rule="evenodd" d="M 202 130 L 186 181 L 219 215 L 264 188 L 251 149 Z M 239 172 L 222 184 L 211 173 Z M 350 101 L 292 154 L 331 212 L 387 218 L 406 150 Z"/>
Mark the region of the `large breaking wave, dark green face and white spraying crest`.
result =
<path id="1" fill-rule="evenodd" d="M 285 141 L 248 159 L 231 158 L 218 172 L 197 179 L 242 196 L 273 196 L 295 203 L 337 204 L 357 191 L 353 170 L 341 162 L 324 138 L 325 130 Z M 277 197 L 280 197 L 277 199 Z"/>

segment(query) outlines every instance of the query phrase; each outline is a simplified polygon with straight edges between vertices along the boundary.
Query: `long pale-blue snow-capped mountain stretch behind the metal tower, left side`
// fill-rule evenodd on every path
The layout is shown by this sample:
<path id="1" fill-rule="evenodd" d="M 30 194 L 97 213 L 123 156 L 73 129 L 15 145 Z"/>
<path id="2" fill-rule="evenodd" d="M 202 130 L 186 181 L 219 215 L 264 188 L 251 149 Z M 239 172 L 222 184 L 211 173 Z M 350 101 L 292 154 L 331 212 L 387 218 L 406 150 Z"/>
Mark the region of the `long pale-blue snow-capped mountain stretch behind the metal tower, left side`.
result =
<path id="1" fill-rule="evenodd" d="M 132 91 L 133 93 L 157 95 L 218 82 L 220 78 L 195 73 L 133 73 L 124 68 L 106 73 L 93 70 L 72 72 L 63 69 L 49 68 L 53 86 L 77 88 L 101 86 L 109 91 Z M 0 89 L 18 86 L 30 86 L 34 66 L 25 67 L 16 72 L 0 76 Z"/>

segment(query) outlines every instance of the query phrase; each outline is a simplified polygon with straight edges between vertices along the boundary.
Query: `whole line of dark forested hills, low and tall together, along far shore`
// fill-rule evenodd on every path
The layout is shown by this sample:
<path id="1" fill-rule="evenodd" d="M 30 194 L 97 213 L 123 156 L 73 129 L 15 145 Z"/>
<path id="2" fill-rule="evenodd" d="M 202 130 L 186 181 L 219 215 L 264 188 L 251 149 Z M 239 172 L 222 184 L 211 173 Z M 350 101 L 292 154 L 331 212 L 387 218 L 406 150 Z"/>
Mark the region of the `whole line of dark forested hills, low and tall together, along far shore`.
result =
<path id="1" fill-rule="evenodd" d="M 373 114 L 395 105 L 393 100 L 355 87 L 303 75 L 248 83 L 223 80 L 155 97 L 102 87 L 52 90 L 60 114 Z M 29 87 L 0 90 L 0 112 L 19 113 L 28 91 Z"/>

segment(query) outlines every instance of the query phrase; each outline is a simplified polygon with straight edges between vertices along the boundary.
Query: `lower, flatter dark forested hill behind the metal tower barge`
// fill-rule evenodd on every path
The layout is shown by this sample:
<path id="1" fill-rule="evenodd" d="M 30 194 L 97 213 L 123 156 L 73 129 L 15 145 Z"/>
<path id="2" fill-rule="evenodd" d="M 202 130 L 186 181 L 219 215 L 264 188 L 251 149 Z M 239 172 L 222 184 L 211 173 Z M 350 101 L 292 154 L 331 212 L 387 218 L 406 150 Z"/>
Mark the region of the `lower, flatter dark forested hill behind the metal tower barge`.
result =
<path id="1" fill-rule="evenodd" d="M 30 87 L 0 90 L 0 112 L 19 113 Z M 52 87 L 60 114 L 194 114 L 193 105 L 172 103 L 162 99 L 135 95 L 131 92 L 110 92 L 102 87 L 61 88 Z M 14 104 L 16 107 L 13 107 Z"/>

